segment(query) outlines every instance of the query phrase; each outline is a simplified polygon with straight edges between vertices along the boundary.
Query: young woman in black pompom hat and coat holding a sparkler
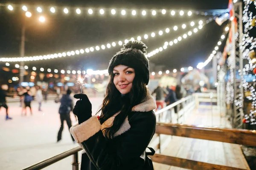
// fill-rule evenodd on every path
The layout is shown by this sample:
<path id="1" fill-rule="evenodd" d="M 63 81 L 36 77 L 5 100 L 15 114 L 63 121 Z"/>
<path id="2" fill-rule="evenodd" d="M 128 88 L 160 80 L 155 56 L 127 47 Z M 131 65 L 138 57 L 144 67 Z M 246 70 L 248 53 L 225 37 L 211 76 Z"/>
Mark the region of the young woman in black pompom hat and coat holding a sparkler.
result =
<path id="1" fill-rule="evenodd" d="M 70 132 L 85 150 L 81 170 L 153 170 L 145 153 L 156 126 L 156 104 L 146 88 L 146 48 L 141 41 L 130 41 L 113 56 L 99 118 L 91 115 L 87 95 L 74 96 L 81 99 L 73 109 L 79 124 Z"/>

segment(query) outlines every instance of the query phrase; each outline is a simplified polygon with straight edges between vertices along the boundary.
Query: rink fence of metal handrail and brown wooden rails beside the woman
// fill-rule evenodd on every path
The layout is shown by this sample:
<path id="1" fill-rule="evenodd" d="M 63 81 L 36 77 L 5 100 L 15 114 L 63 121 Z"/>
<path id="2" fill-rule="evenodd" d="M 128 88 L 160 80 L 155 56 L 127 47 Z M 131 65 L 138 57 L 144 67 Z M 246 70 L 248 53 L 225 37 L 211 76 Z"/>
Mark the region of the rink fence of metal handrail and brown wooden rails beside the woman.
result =
<path id="1" fill-rule="evenodd" d="M 182 98 L 181 100 L 159 110 L 156 112 L 156 116 L 163 114 L 174 107 L 177 107 L 179 110 L 180 105 L 195 105 L 194 96 L 188 96 Z M 186 108 L 183 108 L 186 110 Z M 177 116 L 177 122 L 183 114 Z M 156 134 L 165 135 L 175 135 L 187 138 L 198 138 L 205 139 L 209 141 L 220 141 L 227 142 L 232 144 L 242 144 L 246 146 L 256 147 L 256 131 L 255 130 L 240 130 L 240 129 L 226 129 L 226 128 L 209 128 L 209 127 L 196 127 L 191 125 L 184 124 L 173 124 L 173 123 L 160 123 L 157 122 L 156 125 Z M 159 137 L 160 138 L 160 137 Z M 159 140 L 160 141 L 160 140 Z M 160 142 L 154 149 L 160 151 Z M 78 161 L 78 152 L 82 150 L 81 147 L 75 147 L 71 150 L 68 150 L 59 155 L 53 156 L 51 158 L 40 161 L 36 164 L 33 164 L 29 167 L 24 168 L 23 170 L 40 170 L 44 167 L 47 167 L 51 164 L 54 164 L 57 161 L 60 161 L 68 156 L 73 155 L 72 170 L 79 170 L 79 161 Z M 209 164 L 207 162 L 193 161 L 184 158 L 178 158 L 173 156 L 165 156 L 162 154 L 155 153 L 154 156 L 150 156 L 153 162 L 166 164 L 169 166 L 182 167 L 191 170 L 245 170 L 241 168 L 228 167 L 218 164 Z"/>

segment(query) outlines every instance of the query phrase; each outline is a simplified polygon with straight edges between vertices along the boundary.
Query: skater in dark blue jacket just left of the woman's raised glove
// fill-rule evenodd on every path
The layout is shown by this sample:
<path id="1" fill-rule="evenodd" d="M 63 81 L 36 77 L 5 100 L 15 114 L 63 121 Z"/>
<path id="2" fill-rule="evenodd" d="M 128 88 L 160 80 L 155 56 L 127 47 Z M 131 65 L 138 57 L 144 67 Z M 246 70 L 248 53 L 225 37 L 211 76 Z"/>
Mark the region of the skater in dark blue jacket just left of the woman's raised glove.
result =
<path id="1" fill-rule="evenodd" d="M 62 95 L 62 98 L 60 99 L 61 106 L 59 108 L 59 114 L 60 114 L 60 119 L 61 119 L 61 127 L 60 130 L 58 131 L 58 136 L 57 136 L 57 142 L 61 141 L 61 135 L 62 131 L 64 128 L 64 121 L 66 121 L 68 128 L 72 127 L 71 119 L 70 119 L 70 111 L 73 110 L 73 100 L 70 97 L 71 90 L 67 89 L 67 94 Z M 58 101 L 55 101 L 56 103 Z M 71 135 L 72 141 L 75 143 L 75 139 Z"/>

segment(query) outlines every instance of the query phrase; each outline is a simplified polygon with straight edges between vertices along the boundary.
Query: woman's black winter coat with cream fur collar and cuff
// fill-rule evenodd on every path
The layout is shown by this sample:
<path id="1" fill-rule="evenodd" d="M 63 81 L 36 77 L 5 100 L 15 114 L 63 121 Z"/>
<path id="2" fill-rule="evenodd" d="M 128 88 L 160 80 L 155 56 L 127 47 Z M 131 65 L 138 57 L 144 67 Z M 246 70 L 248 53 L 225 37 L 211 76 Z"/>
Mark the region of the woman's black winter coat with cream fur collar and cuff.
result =
<path id="1" fill-rule="evenodd" d="M 155 108 L 154 99 L 148 95 L 143 103 L 133 107 L 111 140 L 106 140 L 102 130 L 113 124 L 118 113 L 103 124 L 92 116 L 71 127 L 71 134 L 85 150 L 81 170 L 153 170 L 145 150 L 155 133 Z"/>

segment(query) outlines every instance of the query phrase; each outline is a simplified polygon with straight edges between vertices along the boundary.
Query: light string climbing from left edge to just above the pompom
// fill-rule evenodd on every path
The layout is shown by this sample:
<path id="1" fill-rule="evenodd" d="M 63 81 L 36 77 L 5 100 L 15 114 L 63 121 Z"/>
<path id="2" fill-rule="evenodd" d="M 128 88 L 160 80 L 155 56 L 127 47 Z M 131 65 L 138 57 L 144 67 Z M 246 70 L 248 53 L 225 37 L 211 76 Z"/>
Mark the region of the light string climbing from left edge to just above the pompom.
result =
<path id="1" fill-rule="evenodd" d="M 190 26 L 191 27 L 194 27 L 195 26 L 195 22 L 194 21 L 190 21 L 189 22 Z M 199 20 L 198 21 L 198 24 L 199 26 L 203 24 L 203 21 L 202 20 Z M 186 25 L 188 24 L 182 24 L 180 27 L 182 29 L 186 29 L 188 28 Z M 173 30 L 174 31 L 177 31 L 179 27 L 178 26 L 173 26 Z M 199 27 L 201 28 L 201 27 Z M 170 32 L 170 29 L 169 28 L 166 28 L 165 31 L 163 32 L 162 30 L 158 31 L 158 35 L 159 36 L 162 36 L 164 33 L 168 34 Z M 149 38 L 149 35 L 151 35 L 151 37 L 155 37 L 156 36 L 156 33 L 155 32 L 151 32 L 150 34 L 144 34 L 144 39 L 148 39 Z M 141 36 L 137 36 L 137 40 L 141 40 L 142 37 Z M 131 37 L 129 40 L 135 40 L 134 37 Z M 117 42 L 117 41 L 116 41 Z M 112 46 L 115 47 L 116 46 L 116 42 L 112 42 Z M 118 45 L 119 46 L 122 46 L 123 43 L 128 43 L 128 39 L 125 39 L 123 41 L 119 40 L 118 41 Z M 99 51 L 99 50 L 104 50 L 106 49 L 106 47 L 109 49 L 111 48 L 111 44 L 110 43 L 107 43 L 107 45 L 102 45 L 101 48 L 99 46 L 91 46 L 90 48 L 86 48 L 86 49 L 80 49 L 80 50 L 74 50 L 74 51 L 69 51 L 69 52 L 59 52 L 58 54 L 55 53 L 55 54 L 48 54 L 48 55 L 40 55 L 40 56 L 30 56 L 30 57 L 15 57 L 15 58 L 0 58 L 0 61 L 3 61 L 3 62 L 19 62 L 19 61 L 38 61 L 38 60 L 47 60 L 47 59 L 54 59 L 54 58 L 61 58 L 61 57 L 66 57 L 66 56 L 71 56 L 71 55 L 79 55 L 79 54 L 84 54 L 84 52 L 86 53 L 89 53 L 89 52 L 94 52 L 95 50 L 96 51 Z M 94 50 L 95 49 L 95 50 Z"/>

